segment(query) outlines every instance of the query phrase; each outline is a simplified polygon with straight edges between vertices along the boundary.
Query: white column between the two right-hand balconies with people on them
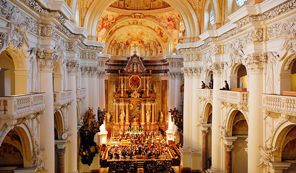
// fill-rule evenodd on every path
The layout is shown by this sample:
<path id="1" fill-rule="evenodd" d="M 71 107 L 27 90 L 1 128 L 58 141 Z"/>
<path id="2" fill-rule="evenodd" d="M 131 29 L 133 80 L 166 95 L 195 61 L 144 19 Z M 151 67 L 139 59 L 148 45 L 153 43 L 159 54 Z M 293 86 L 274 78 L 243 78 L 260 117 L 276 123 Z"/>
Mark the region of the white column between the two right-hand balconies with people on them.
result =
<path id="1" fill-rule="evenodd" d="M 213 70 L 214 88 L 213 88 L 213 113 L 212 113 L 212 167 L 211 173 L 220 173 L 222 170 L 222 143 L 220 138 L 220 128 L 222 119 L 221 104 L 218 100 L 219 89 L 222 88 L 222 74 L 219 66 Z"/>

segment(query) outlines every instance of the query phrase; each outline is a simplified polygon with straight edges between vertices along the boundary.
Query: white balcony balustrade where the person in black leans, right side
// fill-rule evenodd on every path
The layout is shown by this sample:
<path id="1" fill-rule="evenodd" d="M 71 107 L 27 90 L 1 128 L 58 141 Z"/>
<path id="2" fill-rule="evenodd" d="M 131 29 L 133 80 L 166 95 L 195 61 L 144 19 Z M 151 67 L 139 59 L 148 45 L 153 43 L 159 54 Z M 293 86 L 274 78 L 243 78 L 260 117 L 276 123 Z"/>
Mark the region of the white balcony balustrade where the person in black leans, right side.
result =
<path id="1" fill-rule="evenodd" d="M 219 100 L 223 102 L 229 102 L 234 104 L 248 104 L 249 92 L 239 91 L 219 91 Z"/>

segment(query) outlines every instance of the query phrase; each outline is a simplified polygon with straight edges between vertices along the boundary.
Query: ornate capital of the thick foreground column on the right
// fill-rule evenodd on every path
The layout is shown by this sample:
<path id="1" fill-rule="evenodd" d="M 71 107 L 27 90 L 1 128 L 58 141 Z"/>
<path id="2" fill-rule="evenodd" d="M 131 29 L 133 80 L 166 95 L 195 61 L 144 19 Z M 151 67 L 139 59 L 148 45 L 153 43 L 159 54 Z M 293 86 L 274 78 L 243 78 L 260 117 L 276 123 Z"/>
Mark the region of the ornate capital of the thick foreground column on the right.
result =
<path id="1" fill-rule="evenodd" d="M 263 73 L 266 69 L 267 55 L 261 54 L 249 54 L 245 59 L 245 64 L 250 73 Z"/>

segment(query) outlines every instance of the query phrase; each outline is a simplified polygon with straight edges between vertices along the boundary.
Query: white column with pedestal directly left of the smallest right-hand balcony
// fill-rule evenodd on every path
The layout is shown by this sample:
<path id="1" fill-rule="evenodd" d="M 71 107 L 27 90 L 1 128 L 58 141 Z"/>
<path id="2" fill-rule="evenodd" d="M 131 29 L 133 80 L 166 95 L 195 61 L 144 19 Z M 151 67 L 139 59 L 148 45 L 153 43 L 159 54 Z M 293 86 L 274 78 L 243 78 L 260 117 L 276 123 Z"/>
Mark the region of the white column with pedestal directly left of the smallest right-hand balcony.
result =
<path id="1" fill-rule="evenodd" d="M 194 69 L 194 78 L 192 79 L 192 88 L 191 88 L 191 172 L 199 172 L 202 169 L 202 150 L 200 144 L 200 127 L 197 126 L 199 118 L 199 101 L 197 98 L 197 88 L 199 84 L 200 74 L 198 70 Z"/>

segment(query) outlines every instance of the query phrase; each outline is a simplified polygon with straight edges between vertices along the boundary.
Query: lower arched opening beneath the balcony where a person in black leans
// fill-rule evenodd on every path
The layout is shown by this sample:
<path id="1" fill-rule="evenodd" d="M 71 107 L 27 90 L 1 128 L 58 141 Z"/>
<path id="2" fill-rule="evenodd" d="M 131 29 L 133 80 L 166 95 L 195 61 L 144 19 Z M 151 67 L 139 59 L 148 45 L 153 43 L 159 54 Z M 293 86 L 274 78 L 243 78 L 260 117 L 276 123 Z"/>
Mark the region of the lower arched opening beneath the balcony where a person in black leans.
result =
<path id="1" fill-rule="evenodd" d="M 246 152 L 248 144 L 246 140 L 248 137 L 247 120 L 241 111 L 234 110 L 228 123 L 231 124 L 231 136 L 237 137 L 232 143 L 232 173 L 245 173 L 248 170 L 248 153 Z"/>

